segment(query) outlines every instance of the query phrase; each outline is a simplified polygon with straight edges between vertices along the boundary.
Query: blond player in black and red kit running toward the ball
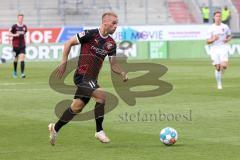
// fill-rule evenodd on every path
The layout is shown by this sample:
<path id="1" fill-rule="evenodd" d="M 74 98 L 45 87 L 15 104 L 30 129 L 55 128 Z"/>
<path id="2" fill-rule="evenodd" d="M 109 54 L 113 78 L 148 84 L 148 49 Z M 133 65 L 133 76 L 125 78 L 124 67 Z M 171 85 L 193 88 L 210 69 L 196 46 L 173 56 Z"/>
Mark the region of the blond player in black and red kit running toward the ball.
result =
<path id="1" fill-rule="evenodd" d="M 64 111 L 55 124 L 50 123 L 48 125 L 52 145 L 56 142 L 59 130 L 71 121 L 77 113 L 82 111 L 91 97 L 94 97 L 96 101 L 94 111 L 96 121 L 95 137 L 102 143 L 110 142 L 102 127 L 106 95 L 98 85 L 97 79 L 104 58 L 108 56 L 111 70 L 122 76 L 123 81 L 128 80 L 127 73 L 116 61 L 116 43 L 109 36 L 115 32 L 117 24 L 118 16 L 114 12 L 106 12 L 102 15 L 100 28 L 78 33 L 64 44 L 62 62 L 57 69 L 56 76 L 58 78 L 63 76 L 71 46 L 81 44 L 78 67 L 74 74 L 74 83 L 77 85 L 77 90 L 70 107 Z"/>

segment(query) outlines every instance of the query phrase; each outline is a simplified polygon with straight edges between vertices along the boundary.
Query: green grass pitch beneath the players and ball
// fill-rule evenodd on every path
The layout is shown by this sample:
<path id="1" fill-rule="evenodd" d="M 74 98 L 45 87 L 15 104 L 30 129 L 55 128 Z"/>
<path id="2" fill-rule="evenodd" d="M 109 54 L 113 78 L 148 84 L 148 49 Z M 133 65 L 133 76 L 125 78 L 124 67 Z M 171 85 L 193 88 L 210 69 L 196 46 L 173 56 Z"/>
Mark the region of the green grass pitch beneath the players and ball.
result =
<path id="1" fill-rule="evenodd" d="M 136 61 L 132 63 L 140 63 Z M 13 79 L 12 64 L 0 65 L 0 159 L 1 160 L 236 160 L 240 149 L 240 63 L 230 59 L 223 75 L 223 90 L 216 89 L 209 60 L 154 60 L 168 72 L 161 77 L 174 89 L 163 96 L 138 98 L 134 107 L 121 99 L 105 116 L 104 128 L 111 139 L 101 144 L 94 138 L 95 122 L 71 122 L 52 147 L 47 125 L 55 122 L 54 107 L 64 95 L 53 91 L 48 78 L 57 62 L 29 62 L 26 79 Z M 138 73 L 130 73 L 136 76 Z M 66 83 L 72 84 L 69 76 Z M 108 63 L 99 83 L 115 95 Z M 147 86 L 141 89 L 148 90 Z M 90 110 L 93 102 L 85 108 Z M 179 115 L 172 119 L 147 119 L 153 113 Z M 139 119 L 130 115 L 141 114 Z M 175 117 L 176 118 L 176 117 Z M 167 147 L 159 140 L 164 127 L 178 131 L 179 139 Z"/>

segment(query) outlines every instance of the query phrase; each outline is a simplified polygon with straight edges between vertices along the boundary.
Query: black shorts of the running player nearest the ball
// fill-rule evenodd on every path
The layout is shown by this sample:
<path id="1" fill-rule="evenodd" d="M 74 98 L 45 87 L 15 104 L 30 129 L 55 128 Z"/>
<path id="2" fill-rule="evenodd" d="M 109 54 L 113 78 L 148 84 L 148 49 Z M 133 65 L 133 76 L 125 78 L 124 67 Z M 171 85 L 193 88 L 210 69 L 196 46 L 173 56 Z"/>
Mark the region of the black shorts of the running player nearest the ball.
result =
<path id="1" fill-rule="evenodd" d="M 81 99 L 85 104 L 91 99 L 93 91 L 99 88 L 97 80 L 86 78 L 81 74 L 74 74 L 74 83 L 77 86 L 74 99 Z"/>

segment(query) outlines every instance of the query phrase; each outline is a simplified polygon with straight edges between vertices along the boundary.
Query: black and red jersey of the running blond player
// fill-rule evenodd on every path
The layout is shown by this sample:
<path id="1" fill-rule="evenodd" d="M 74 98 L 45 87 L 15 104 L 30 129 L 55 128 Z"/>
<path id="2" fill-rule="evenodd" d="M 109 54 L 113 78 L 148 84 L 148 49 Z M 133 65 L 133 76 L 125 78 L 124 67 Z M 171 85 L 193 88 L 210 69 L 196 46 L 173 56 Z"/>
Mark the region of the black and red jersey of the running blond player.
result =
<path id="1" fill-rule="evenodd" d="M 97 79 L 106 56 L 116 55 L 116 43 L 112 37 L 104 37 L 99 29 L 85 30 L 76 35 L 81 44 L 77 74 Z"/>

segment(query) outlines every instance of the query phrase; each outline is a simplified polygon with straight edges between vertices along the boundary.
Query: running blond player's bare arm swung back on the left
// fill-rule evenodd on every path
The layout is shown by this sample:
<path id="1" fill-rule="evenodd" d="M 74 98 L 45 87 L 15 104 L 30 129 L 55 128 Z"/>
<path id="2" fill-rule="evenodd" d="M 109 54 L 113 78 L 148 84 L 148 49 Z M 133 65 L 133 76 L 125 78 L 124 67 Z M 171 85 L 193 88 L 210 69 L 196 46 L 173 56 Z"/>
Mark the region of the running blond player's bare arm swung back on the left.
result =
<path id="1" fill-rule="evenodd" d="M 66 70 L 66 66 L 67 66 L 67 60 L 68 60 L 68 55 L 70 53 L 71 47 L 74 45 L 79 44 L 77 38 L 74 36 L 71 39 L 69 39 L 65 44 L 64 44 L 64 48 L 63 48 L 63 55 L 62 55 L 62 61 L 61 64 L 58 66 L 57 71 L 56 71 L 56 76 L 58 78 L 62 78 L 65 70 Z"/>

